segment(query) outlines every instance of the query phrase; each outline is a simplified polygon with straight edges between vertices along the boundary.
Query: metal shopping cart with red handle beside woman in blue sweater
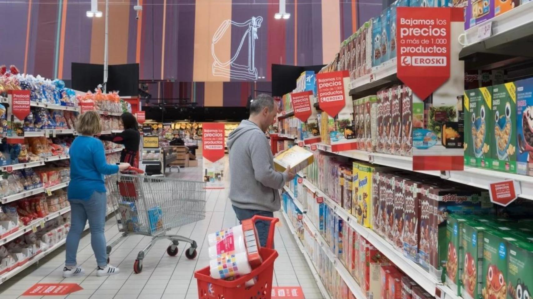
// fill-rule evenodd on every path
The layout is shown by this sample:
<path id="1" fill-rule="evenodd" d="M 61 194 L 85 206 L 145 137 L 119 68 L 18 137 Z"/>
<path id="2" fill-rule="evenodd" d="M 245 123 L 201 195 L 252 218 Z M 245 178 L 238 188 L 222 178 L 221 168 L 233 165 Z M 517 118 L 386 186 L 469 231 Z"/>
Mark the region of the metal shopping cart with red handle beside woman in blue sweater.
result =
<path id="1" fill-rule="evenodd" d="M 185 257 L 196 258 L 196 241 L 184 236 L 167 235 L 166 232 L 205 218 L 205 183 L 139 173 L 142 170 L 130 168 L 126 173 L 110 176 L 107 182 L 118 230 L 122 232 L 116 241 L 107 246 L 108 262 L 112 247 L 128 235 L 152 237 L 137 255 L 133 264 L 135 273 L 142 271 L 144 256 L 161 239 L 172 241 L 167 247 L 168 255 L 174 257 L 177 254 L 177 245 L 181 241 L 191 244 L 185 251 Z"/>

